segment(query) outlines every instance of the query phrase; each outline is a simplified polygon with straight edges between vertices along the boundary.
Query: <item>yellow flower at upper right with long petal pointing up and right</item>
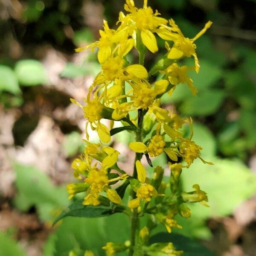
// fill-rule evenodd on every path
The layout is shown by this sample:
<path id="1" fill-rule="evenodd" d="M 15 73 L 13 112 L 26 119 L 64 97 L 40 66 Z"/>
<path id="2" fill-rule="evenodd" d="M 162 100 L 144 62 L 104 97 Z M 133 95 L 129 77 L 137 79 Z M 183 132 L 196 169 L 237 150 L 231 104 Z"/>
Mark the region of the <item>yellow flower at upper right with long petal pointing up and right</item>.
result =
<path id="1" fill-rule="evenodd" d="M 195 71 L 196 73 L 199 72 L 199 61 L 195 52 L 196 45 L 194 44 L 195 40 L 201 37 L 207 29 L 212 25 L 211 21 L 208 21 L 204 29 L 202 29 L 194 38 L 189 39 L 185 38 L 182 32 L 180 31 L 179 27 L 175 24 L 174 20 L 169 20 L 169 24 L 171 27 L 163 25 L 161 27 L 162 30 L 165 30 L 165 33 L 158 33 L 158 35 L 163 38 L 164 40 L 174 41 L 174 45 L 172 48 L 169 49 L 168 52 L 168 58 L 170 59 L 180 59 L 184 56 L 191 57 L 193 56 L 195 58 Z M 166 30 L 169 30 L 169 32 L 166 32 Z M 168 47 L 169 48 L 169 47 Z"/>

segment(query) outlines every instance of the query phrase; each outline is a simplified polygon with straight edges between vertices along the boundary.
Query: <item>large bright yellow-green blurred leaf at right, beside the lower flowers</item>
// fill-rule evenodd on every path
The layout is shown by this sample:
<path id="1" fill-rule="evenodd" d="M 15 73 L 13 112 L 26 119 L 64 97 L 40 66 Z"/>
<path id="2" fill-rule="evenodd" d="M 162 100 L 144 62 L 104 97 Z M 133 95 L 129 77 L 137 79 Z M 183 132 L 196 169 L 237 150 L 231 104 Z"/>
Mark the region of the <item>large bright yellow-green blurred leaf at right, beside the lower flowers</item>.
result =
<path id="1" fill-rule="evenodd" d="M 256 191 L 256 177 L 241 161 L 216 158 L 212 162 L 213 166 L 195 160 L 189 172 L 181 175 L 185 191 L 192 191 L 192 186 L 199 184 L 201 190 L 207 192 L 210 207 L 188 204 L 197 218 L 230 215 Z"/>

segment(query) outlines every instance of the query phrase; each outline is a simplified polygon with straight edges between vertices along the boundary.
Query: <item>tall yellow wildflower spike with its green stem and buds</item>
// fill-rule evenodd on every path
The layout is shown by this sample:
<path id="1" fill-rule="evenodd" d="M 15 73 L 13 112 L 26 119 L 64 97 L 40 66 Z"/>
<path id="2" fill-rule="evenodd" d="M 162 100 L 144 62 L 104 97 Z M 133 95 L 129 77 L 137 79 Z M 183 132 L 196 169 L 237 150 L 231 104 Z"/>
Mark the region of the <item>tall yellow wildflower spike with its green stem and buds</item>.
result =
<path id="1" fill-rule="evenodd" d="M 207 205 L 207 194 L 195 184 L 191 191 L 182 191 L 180 175 L 183 170 L 199 158 L 202 148 L 193 139 L 192 119 L 182 118 L 175 111 L 161 108 L 160 97 L 164 93 L 172 96 L 179 84 L 186 83 L 197 93 L 188 71 L 199 72 L 200 65 L 196 54 L 195 41 L 211 26 L 208 21 L 194 38 L 186 38 L 175 21 L 160 17 L 144 0 L 143 8 L 137 8 L 133 0 L 126 0 L 126 13 L 120 12 L 116 29 L 110 29 L 104 21 L 100 38 L 93 44 L 76 51 L 98 49 L 101 71 L 90 86 L 85 105 L 76 102 L 84 111 L 86 124 L 86 147 L 84 153 L 73 161 L 74 176 L 80 182 L 67 186 L 70 198 L 77 193 L 85 194 L 83 201 L 75 201 L 76 213 L 73 216 L 101 217 L 123 212 L 131 219 L 131 239 L 123 243 L 109 241 L 103 249 L 108 256 L 127 251 L 129 256 L 175 256 L 181 255 L 171 241 L 169 243 L 148 244 L 150 232 L 157 224 L 163 224 L 170 233 L 172 228 L 182 228 L 175 220 L 179 214 L 183 218 L 191 215 L 189 204 Z M 151 70 L 144 67 L 147 51 L 156 54 L 158 40 L 165 41 L 166 54 Z M 138 63 L 129 63 L 127 55 L 138 52 Z M 194 66 L 180 65 L 183 58 L 193 58 Z M 152 82 L 153 77 L 160 77 Z M 131 118 L 131 112 L 137 116 Z M 110 126 L 102 119 L 110 120 Z M 122 127 L 113 128 L 116 121 Z M 100 143 L 90 143 L 87 127 L 97 132 Z M 189 126 L 191 136 L 184 137 L 182 128 Z M 134 151 L 134 170 L 127 173 L 119 168 L 120 153 L 106 145 L 111 136 L 122 131 L 134 134 L 134 142 L 128 146 Z M 165 154 L 169 159 L 169 183 L 163 181 L 164 166 L 153 166 L 152 157 Z M 145 164 L 154 167 L 150 177 Z M 114 172 L 113 172 L 114 170 Z M 124 194 L 130 198 L 124 200 Z M 80 204 L 80 205 L 78 205 Z M 70 209 L 74 209 L 70 207 Z M 84 213 L 85 212 L 85 213 Z M 90 212 L 90 214 L 86 213 Z M 68 215 L 63 213 L 60 218 Z M 139 219 L 148 215 L 148 226 L 140 227 Z M 58 218 L 58 219 L 60 219 Z M 87 251 L 85 255 L 93 255 Z"/>

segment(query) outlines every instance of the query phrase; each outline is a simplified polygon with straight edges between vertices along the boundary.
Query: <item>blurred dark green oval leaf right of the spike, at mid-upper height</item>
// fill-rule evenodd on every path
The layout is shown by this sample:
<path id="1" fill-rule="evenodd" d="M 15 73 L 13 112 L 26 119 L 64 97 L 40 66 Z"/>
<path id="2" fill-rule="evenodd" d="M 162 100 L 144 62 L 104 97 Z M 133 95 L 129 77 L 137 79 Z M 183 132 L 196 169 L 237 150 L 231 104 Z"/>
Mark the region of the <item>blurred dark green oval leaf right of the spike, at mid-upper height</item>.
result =
<path id="1" fill-rule="evenodd" d="M 208 90 L 186 99 L 180 106 L 186 116 L 209 116 L 221 107 L 225 93 L 222 90 Z"/>

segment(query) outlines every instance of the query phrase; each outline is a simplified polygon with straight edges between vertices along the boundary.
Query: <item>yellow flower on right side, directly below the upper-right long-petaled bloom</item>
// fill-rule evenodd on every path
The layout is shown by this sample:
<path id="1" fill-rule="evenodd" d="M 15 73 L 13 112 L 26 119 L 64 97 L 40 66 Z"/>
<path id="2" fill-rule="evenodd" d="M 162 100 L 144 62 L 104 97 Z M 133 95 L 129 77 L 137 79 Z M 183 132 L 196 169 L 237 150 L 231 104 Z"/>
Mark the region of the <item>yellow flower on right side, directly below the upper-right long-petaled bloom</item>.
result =
<path id="1" fill-rule="evenodd" d="M 198 90 L 194 86 L 193 80 L 187 75 L 187 72 L 189 70 L 194 70 L 194 68 L 188 68 L 187 66 L 179 67 L 177 63 L 173 63 L 171 66 L 167 67 L 167 69 L 162 73 L 166 74 L 166 76 L 169 79 L 169 82 L 175 85 L 175 87 L 177 84 L 187 83 L 189 89 L 192 91 L 193 95 L 195 95 L 198 92 Z M 169 94 L 173 92 L 175 87 L 172 87 L 172 89 L 169 91 Z"/>

